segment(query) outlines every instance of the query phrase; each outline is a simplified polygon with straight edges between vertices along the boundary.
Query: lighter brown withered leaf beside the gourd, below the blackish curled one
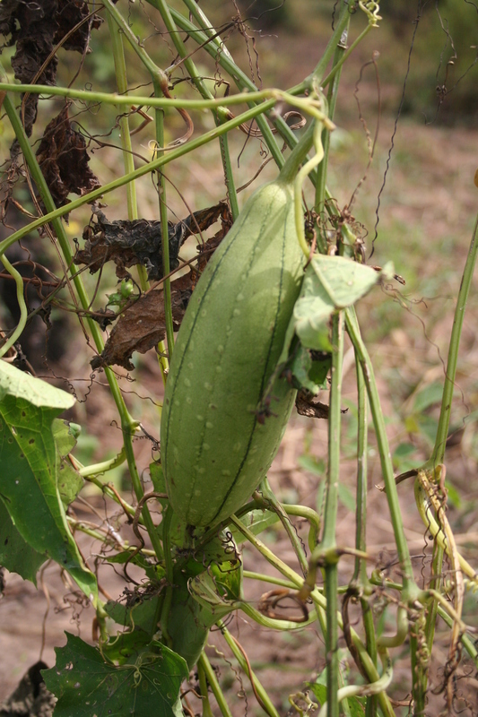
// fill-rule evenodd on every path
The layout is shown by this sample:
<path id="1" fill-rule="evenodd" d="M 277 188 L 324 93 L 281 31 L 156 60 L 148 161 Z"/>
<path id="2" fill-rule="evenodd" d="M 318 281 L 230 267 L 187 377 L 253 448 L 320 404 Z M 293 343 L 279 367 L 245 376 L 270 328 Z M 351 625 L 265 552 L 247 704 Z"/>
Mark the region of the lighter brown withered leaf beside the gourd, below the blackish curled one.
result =
<path id="1" fill-rule="evenodd" d="M 176 330 L 179 328 L 191 296 L 192 278 L 192 272 L 189 272 L 171 284 L 172 317 Z M 120 316 L 103 352 L 91 360 L 91 368 L 114 364 L 132 371 L 133 351 L 146 353 L 162 341 L 165 335 L 163 290 L 152 289 L 138 298 L 135 304 Z"/>

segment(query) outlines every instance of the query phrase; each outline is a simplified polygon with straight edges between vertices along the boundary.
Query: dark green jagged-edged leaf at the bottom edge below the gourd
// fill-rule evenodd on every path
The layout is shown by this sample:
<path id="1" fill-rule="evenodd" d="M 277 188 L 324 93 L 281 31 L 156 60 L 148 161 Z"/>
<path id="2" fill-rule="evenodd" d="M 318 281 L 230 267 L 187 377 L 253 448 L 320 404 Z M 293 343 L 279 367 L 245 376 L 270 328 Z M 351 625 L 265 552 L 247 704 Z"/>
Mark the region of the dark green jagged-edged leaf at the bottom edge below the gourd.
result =
<path id="1" fill-rule="evenodd" d="M 179 689 L 188 670 L 178 654 L 153 641 L 153 652 L 116 667 L 80 637 L 66 636 L 55 667 L 42 673 L 58 698 L 54 717 L 182 717 Z"/>

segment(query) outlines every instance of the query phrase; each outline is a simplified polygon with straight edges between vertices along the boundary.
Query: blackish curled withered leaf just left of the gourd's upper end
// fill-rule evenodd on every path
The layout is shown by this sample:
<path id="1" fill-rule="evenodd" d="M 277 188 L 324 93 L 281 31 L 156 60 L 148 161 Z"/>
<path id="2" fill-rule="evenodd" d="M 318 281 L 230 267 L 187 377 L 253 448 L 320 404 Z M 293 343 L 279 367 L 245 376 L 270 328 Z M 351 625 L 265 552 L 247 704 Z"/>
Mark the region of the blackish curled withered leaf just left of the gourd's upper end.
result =
<path id="1" fill-rule="evenodd" d="M 216 204 L 190 214 L 177 224 L 169 223 L 169 267 L 178 267 L 178 253 L 183 242 L 192 234 L 208 229 L 214 221 L 225 214 L 227 206 Z M 96 221 L 83 231 L 85 245 L 74 255 L 74 263 L 87 264 L 91 273 L 100 271 L 105 262 L 114 261 L 117 277 L 127 276 L 126 269 L 141 263 L 148 272 L 150 281 L 159 281 L 162 276 L 162 235 L 159 220 L 114 220 L 109 221 L 103 212 L 93 210 Z"/>

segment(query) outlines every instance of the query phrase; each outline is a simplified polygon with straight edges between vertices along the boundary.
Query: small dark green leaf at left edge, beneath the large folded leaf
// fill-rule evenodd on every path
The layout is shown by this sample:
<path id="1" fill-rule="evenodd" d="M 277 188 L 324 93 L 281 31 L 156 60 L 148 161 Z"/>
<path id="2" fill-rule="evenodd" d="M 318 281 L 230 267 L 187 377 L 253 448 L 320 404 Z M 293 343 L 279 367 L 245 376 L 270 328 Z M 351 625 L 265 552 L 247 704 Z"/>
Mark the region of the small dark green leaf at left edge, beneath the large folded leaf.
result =
<path id="1" fill-rule="evenodd" d="M 47 559 L 46 555 L 37 552 L 23 540 L 12 523 L 4 501 L 0 500 L 0 565 L 36 585 L 36 574 Z"/>

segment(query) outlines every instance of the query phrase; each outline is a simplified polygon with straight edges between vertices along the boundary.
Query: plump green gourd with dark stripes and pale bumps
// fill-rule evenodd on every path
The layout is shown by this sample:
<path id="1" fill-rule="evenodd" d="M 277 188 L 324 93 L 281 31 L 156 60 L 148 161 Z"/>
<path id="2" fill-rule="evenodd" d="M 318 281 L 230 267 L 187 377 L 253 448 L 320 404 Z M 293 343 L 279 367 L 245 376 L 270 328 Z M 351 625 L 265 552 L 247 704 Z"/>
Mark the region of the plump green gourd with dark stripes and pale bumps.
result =
<path id="1" fill-rule="evenodd" d="M 259 407 L 303 277 L 292 177 L 282 169 L 248 199 L 179 329 L 163 402 L 161 463 L 173 510 L 193 526 L 213 527 L 248 500 L 291 415 L 296 392 L 283 377 L 272 386 L 271 415 Z"/>

